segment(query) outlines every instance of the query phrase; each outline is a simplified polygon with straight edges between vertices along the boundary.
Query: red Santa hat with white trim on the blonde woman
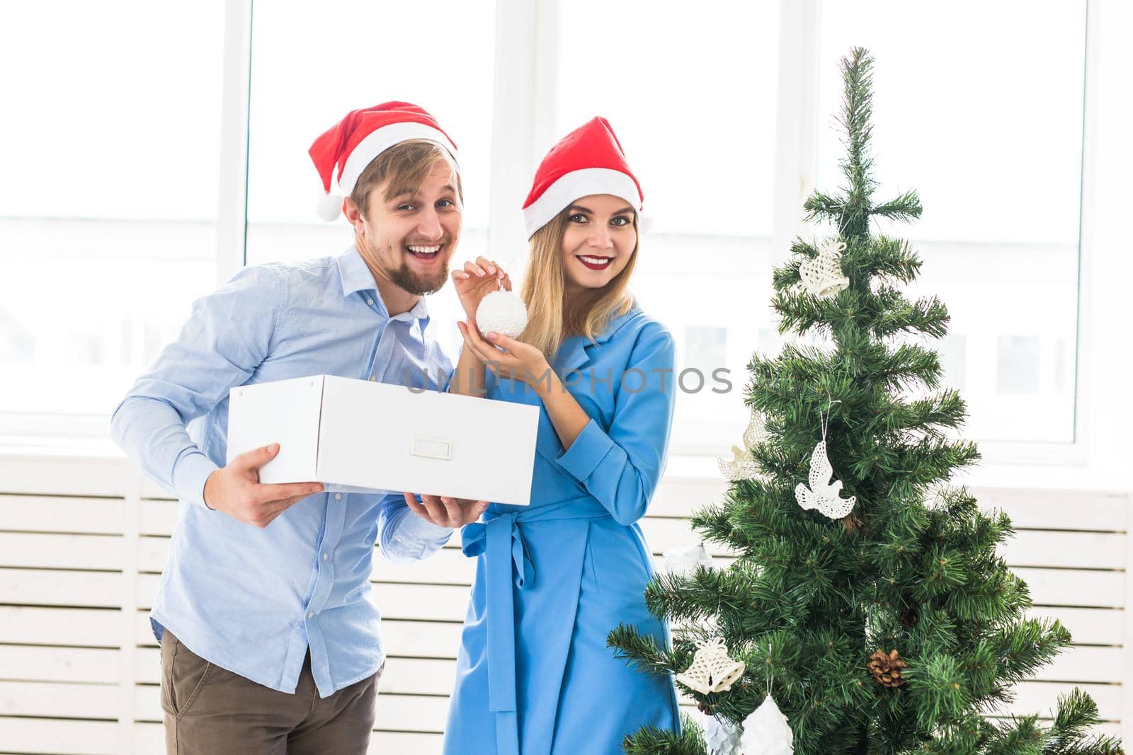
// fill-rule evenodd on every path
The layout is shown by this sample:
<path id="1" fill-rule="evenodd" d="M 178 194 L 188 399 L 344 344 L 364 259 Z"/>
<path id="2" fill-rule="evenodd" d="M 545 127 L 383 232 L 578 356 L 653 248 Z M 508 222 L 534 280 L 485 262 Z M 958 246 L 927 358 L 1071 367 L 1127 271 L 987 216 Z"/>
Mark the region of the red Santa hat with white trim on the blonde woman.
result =
<path id="1" fill-rule="evenodd" d="M 645 197 L 625 162 L 622 145 L 605 118 L 594 118 L 564 136 L 539 163 L 523 203 L 527 238 L 579 197 L 610 194 L 640 214 Z"/>

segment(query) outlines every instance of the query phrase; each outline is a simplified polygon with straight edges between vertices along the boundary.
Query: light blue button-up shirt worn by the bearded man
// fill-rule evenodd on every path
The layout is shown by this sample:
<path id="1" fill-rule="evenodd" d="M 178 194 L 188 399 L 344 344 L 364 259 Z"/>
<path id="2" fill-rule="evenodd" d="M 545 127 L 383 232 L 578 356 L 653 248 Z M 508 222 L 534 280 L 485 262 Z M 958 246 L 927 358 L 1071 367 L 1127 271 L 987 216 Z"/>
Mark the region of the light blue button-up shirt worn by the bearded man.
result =
<path id="1" fill-rule="evenodd" d="M 390 317 L 353 248 L 247 267 L 194 303 L 111 420 L 114 441 L 180 499 L 151 612 L 159 640 L 168 627 L 205 660 L 286 693 L 308 647 L 324 697 L 381 668 L 375 540 L 387 558 L 411 560 L 452 531 L 414 516 L 401 494 L 333 491 L 257 529 L 206 507 L 204 484 L 224 464 L 235 386 L 327 374 L 444 389 L 452 363 L 428 323 L 424 298 Z"/>

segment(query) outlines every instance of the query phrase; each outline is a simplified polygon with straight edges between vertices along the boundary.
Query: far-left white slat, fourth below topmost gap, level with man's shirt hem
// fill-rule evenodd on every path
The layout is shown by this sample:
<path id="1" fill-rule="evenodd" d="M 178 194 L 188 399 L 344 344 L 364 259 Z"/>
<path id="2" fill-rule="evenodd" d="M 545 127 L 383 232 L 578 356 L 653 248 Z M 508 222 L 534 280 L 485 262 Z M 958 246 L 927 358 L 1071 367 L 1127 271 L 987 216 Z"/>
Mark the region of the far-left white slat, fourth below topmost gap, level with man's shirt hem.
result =
<path id="1" fill-rule="evenodd" d="M 0 606 L 0 643 L 117 647 L 119 609 Z"/>

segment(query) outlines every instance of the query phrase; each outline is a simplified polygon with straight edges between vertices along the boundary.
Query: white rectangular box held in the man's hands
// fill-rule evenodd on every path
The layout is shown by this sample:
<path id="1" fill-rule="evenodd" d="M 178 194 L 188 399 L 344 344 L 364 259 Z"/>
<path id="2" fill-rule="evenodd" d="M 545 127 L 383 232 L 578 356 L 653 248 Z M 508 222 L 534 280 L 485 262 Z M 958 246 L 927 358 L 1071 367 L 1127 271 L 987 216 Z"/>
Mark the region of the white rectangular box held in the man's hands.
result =
<path id="1" fill-rule="evenodd" d="M 316 375 L 229 393 L 228 461 L 280 444 L 259 481 L 527 506 L 539 410 Z"/>

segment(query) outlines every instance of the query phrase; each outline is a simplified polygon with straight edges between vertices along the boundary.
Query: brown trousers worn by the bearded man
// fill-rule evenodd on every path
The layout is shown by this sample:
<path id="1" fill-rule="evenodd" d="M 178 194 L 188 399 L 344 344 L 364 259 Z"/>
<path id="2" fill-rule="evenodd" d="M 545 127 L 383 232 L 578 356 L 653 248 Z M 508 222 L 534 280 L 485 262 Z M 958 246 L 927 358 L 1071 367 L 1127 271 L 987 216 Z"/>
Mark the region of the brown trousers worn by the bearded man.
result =
<path id="1" fill-rule="evenodd" d="M 161 638 L 165 750 L 169 755 L 364 754 L 384 668 L 321 698 L 307 653 L 296 694 L 289 695 L 210 663 L 165 629 Z"/>

